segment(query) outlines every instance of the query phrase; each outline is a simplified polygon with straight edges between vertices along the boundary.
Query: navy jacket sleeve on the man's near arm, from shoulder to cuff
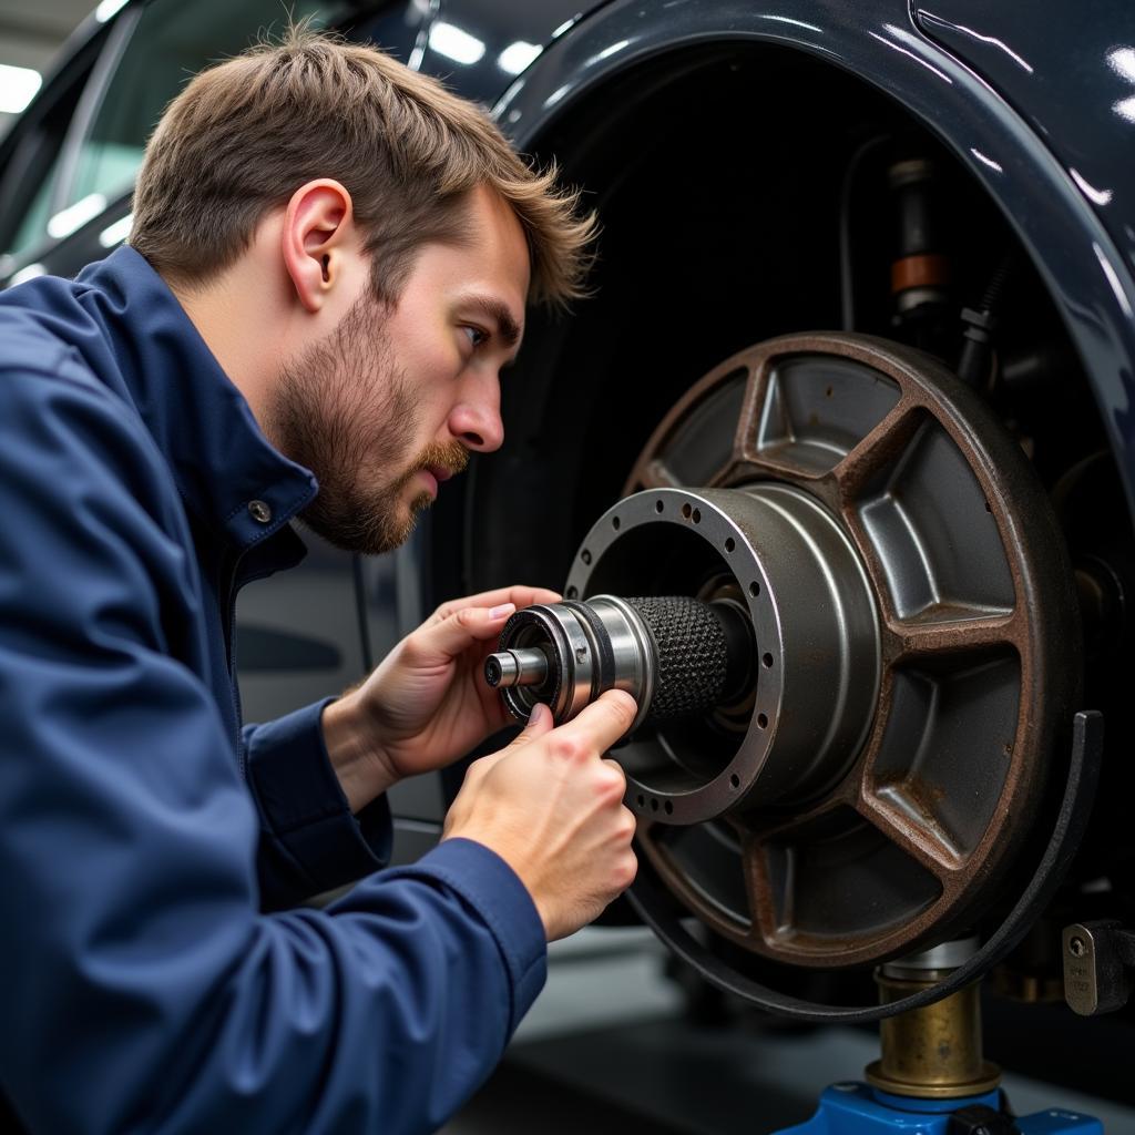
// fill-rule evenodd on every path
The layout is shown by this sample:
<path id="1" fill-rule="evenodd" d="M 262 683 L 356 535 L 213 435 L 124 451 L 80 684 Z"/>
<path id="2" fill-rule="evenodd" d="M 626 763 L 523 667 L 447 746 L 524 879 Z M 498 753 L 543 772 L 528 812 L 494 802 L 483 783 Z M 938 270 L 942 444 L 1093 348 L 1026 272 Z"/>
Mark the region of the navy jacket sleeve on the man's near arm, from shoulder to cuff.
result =
<path id="1" fill-rule="evenodd" d="M 32 1132 L 426 1132 L 538 992 L 539 917 L 451 840 L 258 910 L 260 822 L 170 655 L 184 548 L 103 390 L 2 373 L 0 1083 Z"/>

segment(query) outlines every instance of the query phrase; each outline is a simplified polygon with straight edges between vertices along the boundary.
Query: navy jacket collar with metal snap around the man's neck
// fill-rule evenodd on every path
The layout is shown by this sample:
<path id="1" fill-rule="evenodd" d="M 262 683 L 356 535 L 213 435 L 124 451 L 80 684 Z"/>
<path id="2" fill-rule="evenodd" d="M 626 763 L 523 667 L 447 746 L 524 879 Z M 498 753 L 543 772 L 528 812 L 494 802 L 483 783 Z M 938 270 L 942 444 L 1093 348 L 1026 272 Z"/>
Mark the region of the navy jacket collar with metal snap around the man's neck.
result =
<path id="1" fill-rule="evenodd" d="M 96 303 L 115 363 L 187 507 L 238 549 L 278 531 L 319 490 L 275 449 L 177 297 L 131 247 L 77 278 Z"/>

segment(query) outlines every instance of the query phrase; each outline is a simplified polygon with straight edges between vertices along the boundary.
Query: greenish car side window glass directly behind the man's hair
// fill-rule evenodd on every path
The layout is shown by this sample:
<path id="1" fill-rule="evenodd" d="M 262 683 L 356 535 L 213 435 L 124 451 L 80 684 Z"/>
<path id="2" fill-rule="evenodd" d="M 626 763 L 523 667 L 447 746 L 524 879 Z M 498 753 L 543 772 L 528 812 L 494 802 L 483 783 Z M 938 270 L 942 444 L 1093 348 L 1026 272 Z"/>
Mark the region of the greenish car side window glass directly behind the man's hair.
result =
<path id="1" fill-rule="evenodd" d="M 345 2 L 154 0 L 138 20 L 78 151 L 64 209 L 98 213 L 128 192 L 146 138 L 166 104 L 199 70 L 277 34 L 287 12 L 316 27 L 335 24 Z"/>

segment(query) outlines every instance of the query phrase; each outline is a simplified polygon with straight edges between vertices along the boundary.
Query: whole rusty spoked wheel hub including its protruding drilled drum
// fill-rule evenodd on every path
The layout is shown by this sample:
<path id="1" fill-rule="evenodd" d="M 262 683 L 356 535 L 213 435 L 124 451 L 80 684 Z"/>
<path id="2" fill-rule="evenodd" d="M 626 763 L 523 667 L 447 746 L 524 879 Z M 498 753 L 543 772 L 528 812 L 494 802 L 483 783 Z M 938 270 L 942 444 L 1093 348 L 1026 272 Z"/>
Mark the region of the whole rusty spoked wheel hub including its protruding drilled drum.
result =
<path id="1" fill-rule="evenodd" d="M 980 919 L 1041 807 L 1077 622 L 1035 476 L 917 352 L 774 339 L 711 372 L 585 539 L 569 598 L 743 605 L 734 705 L 620 751 L 639 844 L 717 934 L 805 966 Z"/>

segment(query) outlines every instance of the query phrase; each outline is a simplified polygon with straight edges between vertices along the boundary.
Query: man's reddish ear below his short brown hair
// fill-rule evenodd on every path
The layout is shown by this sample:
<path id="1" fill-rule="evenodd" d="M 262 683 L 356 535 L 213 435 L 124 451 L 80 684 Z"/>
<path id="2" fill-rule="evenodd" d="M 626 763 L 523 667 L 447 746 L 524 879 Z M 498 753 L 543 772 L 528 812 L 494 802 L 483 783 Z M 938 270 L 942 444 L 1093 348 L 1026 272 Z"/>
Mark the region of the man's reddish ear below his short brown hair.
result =
<path id="1" fill-rule="evenodd" d="M 284 266 L 308 311 L 322 308 L 343 275 L 354 232 L 351 194 L 320 178 L 292 194 L 284 213 Z"/>

